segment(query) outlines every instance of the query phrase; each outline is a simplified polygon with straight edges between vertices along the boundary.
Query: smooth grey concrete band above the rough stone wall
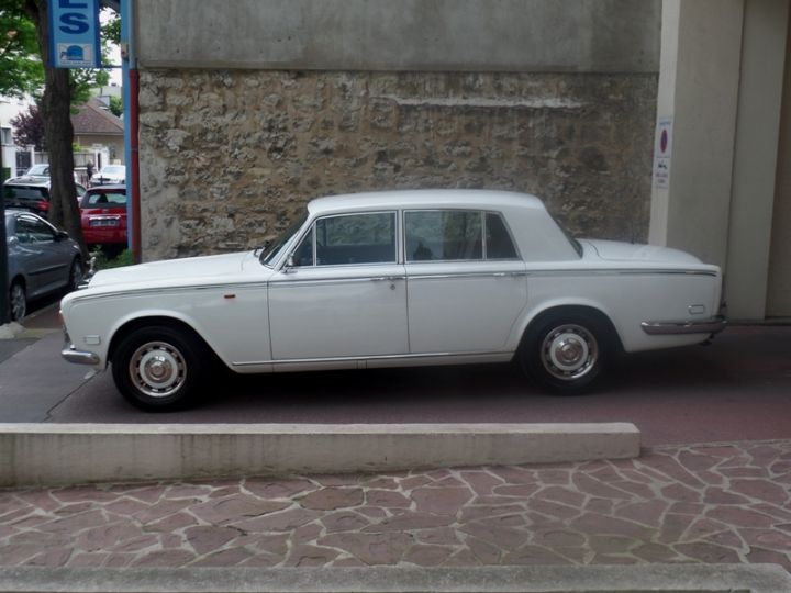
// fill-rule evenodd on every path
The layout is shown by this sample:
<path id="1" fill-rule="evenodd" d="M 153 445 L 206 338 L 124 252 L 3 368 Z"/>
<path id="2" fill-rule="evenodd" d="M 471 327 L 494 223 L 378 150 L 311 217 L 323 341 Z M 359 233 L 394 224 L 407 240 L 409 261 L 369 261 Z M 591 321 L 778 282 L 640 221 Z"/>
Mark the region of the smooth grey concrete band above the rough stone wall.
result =
<path id="1" fill-rule="evenodd" d="M 658 0 L 136 0 L 142 68 L 656 72 Z"/>

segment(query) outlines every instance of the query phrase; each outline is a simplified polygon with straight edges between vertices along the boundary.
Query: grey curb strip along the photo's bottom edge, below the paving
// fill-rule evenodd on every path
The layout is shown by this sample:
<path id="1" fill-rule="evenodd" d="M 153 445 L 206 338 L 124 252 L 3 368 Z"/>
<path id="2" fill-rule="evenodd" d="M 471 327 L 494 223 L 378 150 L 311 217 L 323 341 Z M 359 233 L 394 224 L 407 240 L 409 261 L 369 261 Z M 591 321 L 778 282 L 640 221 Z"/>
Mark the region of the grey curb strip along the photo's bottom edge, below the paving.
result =
<path id="1" fill-rule="evenodd" d="M 419 569 L 0 569 L 0 593 L 788 593 L 776 564 Z"/>

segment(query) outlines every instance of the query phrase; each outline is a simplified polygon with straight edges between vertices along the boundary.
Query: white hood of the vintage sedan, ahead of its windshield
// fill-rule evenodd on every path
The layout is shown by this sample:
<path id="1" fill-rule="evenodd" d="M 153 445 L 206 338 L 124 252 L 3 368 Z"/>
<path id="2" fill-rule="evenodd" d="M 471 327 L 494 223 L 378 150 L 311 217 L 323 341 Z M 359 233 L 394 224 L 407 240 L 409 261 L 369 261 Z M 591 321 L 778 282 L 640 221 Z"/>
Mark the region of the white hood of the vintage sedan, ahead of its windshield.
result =
<path id="1" fill-rule="evenodd" d="M 108 284 L 178 286 L 239 273 L 252 251 L 151 261 L 97 272 L 90 288 Z"/>

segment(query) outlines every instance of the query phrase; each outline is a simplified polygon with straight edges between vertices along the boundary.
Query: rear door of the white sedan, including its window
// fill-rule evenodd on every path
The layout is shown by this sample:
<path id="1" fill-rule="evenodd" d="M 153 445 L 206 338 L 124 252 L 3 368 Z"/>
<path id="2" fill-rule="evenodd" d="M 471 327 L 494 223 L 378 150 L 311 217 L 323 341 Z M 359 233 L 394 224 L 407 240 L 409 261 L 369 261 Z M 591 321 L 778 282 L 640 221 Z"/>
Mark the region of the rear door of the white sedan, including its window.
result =
<path id="1" fill-rule="evenodd" d="M 527 282 L 502 216 L 412 210 L 403 226 L 410 351 L 503 350 L 525 306 Z"/>

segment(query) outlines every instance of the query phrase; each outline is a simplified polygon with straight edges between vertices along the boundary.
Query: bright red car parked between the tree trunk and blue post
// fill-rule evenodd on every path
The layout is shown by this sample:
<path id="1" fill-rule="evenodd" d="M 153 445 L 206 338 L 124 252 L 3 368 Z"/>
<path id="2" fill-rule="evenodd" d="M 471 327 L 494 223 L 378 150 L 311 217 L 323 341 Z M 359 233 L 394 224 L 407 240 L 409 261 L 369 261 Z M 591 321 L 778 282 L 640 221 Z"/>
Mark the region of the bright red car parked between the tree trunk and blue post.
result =
<path id="1" fill-rule="evenodd" d="M 88 248 L 101 245 L 121 251 L 126 247 L 126 187 L 90 188 L 80 200 L 82 234 Z"/>

